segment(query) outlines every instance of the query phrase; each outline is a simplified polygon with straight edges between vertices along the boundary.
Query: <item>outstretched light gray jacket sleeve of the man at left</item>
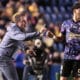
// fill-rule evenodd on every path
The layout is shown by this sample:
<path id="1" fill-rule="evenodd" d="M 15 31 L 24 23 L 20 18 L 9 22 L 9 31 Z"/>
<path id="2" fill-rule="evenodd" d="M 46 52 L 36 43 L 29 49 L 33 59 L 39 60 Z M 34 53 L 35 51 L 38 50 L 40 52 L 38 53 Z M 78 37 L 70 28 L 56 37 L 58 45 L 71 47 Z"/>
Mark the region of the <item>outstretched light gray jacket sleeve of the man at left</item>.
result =
<path id="1" fill-rule="evenodd" d="M 34 39 L 40 35 L 39 32 L 32 32 L 32 33 L 23 33 L 19 31 L 9 33 L 11 39 L 14 40 L 29 40 Z"/>

